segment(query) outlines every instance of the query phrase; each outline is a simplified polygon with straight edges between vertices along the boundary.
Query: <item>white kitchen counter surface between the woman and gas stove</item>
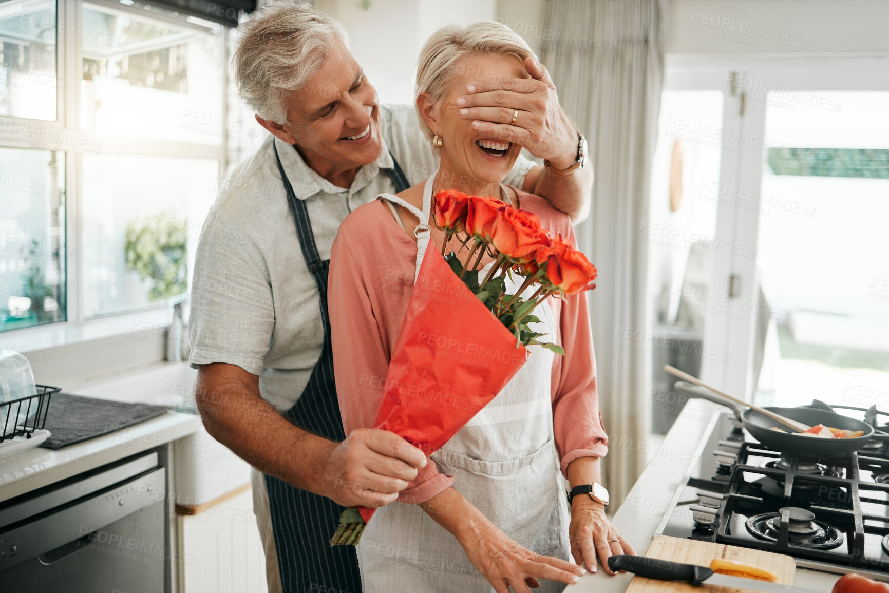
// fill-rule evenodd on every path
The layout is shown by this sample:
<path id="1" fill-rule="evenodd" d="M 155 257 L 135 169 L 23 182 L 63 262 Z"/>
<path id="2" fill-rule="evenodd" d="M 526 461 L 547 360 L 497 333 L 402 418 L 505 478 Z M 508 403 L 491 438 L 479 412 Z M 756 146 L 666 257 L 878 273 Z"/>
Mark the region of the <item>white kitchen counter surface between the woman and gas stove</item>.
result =
<path id="1" fill-rule="evenodd" d="M 645 554 L 654 532 L 661 523 L 669 502 L 680 482 L 685 479 L 690 463 L 697 462 L 696 452 L 701 439 L 717 421 L 724 408 L 701 399 L 691 399 L 679 414 L 661 446 L 648 451 L 648 464 L 613 517 L 618 528 L 639 555 Z M 702 452 L 709 455 L 710 452 Z M 841 575 L 797 567 L 795 584 L 828 593 Z M 599 566 L 598 572 L 587 573 L 567 593 L 618 593 L 629 587 L 630 573 L 609 576 Z"/>

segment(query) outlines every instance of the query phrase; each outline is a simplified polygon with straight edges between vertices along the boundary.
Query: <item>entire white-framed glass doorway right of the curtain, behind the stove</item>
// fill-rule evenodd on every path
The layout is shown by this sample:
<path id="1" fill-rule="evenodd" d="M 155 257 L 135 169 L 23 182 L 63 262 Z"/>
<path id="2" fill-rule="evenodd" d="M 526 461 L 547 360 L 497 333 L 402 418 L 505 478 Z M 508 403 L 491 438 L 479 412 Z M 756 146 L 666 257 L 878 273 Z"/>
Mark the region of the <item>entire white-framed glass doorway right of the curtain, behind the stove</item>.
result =
<path id="1" fill-rule="evenodd" d="M 670 361 L 760 405 L 889 409 L 884 61 L 668 61 L 640 229 L 655 432 L 685 404 Z"/>

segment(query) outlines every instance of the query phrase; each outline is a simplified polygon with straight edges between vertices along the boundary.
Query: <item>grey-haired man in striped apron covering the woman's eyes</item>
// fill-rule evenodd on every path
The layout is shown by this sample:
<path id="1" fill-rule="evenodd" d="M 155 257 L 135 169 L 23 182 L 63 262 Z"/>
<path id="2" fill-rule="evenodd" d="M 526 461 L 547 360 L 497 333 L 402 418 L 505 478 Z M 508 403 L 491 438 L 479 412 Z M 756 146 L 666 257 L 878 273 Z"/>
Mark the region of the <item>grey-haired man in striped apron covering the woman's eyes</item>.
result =
<path id="1" fill-rule="evenodd" d="M 269 590 L 361 590 L 355 550 L 328 545 L 342 507 L 395 501 L 426 458 L 394 434 L 343 434 L 333 384 L 327 267 L 340 222 L 436 169 L 412 107 L 385 107 L 340 24 L 308 4 L 244 24 L 238 92 L 271 132 L 213 205 L 192 281 L 191 365 L 204 426 L 248 461 Z M 545 68 L 485 80 L 458 100 L 488 137 L 514 141 L 507 180 L 583 216 L 585 140 Z M 261 473 L 260 473 L 261 472 Z"/>

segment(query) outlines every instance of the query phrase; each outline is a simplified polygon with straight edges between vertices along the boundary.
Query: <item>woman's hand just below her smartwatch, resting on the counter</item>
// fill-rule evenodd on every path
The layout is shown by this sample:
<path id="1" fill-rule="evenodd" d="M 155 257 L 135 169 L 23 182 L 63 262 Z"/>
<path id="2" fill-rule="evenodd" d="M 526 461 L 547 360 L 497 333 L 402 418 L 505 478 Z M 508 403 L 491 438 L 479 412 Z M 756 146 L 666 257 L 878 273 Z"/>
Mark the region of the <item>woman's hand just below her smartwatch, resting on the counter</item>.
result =
<path id="1" fill-rule="evenodd" d="M 608 568 L 608 557 L 636 554 L 605 517 L 605 506 L 581 496 L 575 496 L 572 502 L 568 536 L 571 538 L 571 555 L 577 564 L 585 565 L 590 573 L 596 572 L 597 554 L 605 566 L 605 572 L 609 574 L 614 573 Z"/>

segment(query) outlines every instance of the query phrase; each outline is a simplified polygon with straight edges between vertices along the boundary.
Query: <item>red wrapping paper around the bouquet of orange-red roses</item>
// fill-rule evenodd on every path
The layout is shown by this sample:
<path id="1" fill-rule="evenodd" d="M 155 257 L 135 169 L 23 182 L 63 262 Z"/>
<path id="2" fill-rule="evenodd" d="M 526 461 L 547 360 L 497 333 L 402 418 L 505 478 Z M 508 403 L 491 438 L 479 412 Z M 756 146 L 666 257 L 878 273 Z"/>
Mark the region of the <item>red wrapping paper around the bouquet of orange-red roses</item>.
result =
<path id="1" fill-rule="evenodd" d="M 430 243 L 373 428 L 390 430 L 431 455 L 500 393 L 527 358 L 525 346 Z M 365 522 L 374 510 L 358 508 Z"/>

